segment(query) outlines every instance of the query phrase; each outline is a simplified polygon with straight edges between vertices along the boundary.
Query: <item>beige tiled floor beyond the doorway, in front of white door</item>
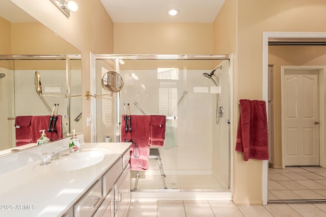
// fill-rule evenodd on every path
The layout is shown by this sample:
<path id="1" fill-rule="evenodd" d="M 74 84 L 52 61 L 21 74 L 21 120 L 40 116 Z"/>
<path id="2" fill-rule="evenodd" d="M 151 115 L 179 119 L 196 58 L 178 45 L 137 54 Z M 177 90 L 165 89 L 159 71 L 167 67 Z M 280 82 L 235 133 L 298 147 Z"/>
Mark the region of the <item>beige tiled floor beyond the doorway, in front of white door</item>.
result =
<path id="1" fill-rule="evenodd" d="M 268 169 L 268 201 L 326 200 L 326 168 Z"/>

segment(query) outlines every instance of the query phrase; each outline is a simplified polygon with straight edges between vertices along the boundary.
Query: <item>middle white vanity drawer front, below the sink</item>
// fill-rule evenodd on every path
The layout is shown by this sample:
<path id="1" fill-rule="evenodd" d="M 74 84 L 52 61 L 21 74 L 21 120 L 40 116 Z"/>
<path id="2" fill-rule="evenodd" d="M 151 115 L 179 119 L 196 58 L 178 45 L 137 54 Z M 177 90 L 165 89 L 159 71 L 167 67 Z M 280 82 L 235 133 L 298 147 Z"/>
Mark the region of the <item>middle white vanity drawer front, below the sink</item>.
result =
<path id="1" fill-rule="evenodd" d="M 107 170 L 102 176 L 103 188 L 102 188 L 102 196 L 106 196 L 106 194 L 113 187 L 114 182 L 122 173 L 122 158 L 119 158 L 114 165 Z"/>

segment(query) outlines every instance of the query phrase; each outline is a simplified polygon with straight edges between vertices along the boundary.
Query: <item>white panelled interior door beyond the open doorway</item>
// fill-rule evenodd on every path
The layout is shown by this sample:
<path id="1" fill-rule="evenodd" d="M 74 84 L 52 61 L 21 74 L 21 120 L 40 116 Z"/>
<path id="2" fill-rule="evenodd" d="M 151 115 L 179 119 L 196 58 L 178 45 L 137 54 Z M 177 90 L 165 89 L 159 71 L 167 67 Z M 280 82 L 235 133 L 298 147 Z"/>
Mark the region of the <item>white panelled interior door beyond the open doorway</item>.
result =
<path id="1" fill-rule="evenodd" d="M 319 165 L 318 70 L 285 69 L 282 104 L 284 166 Z"/>

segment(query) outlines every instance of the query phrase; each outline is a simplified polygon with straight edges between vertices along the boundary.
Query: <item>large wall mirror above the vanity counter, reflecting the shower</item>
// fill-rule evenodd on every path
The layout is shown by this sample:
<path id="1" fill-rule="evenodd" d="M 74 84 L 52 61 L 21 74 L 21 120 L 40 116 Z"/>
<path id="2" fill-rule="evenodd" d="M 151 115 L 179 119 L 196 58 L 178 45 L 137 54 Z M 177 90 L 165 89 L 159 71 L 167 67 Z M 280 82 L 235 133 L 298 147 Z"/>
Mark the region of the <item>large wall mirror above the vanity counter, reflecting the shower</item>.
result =
<path id="1" fill-rule="evenodd" d="M 17 148 L 18 116 L 51 115 L 55 104 L 62 137 L 82 132 L 80 51 L 9 0 L 0 2 L 0 28 L 0 156 Z M 36 91 L 36 71 L 43 97 Z"/>

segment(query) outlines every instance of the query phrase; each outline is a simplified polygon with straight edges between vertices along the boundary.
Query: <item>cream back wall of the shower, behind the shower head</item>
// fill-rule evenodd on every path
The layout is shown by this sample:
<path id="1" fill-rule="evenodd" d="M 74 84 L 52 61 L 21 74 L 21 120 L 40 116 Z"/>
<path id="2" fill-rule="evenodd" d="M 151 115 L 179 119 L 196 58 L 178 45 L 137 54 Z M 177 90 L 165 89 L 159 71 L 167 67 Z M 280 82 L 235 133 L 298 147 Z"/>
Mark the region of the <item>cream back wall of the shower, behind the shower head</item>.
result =
<path id="1" fill-rule="evenodd" d="M 202 70 L 180 70 L 179 80 L 159 80 L 156 70 L 125 70 L 120 71 L 124 88 L 120 92 L 120 113 L 123 114 L 123 104 L 130 104 L 130 113 L 142 113 L 133 104 L 138 105 L 146 114 L 159 113 L 159 88 L 177 88 L 177 99 L 184 90 L 187 95 L 180 102 L 177 113 L 177 130 L 175 137 L 178 147 L 170 149 L 159 148 L 162 164 L 167 174 L 175 173 L 210 173 L 212 169 L 212 94 L 194 93 L 196 86 L 210 86 L 211 82 L 202 76 Z M 138 80 L 134 79 L 135 76 Z M 168 102 L 167 102 L 168 103 Z M 170 100 L 170 103 L 173 103 Z M 170 112 L 173 106 L 170 106 Z M 150 167 L 156 168 L 153 161 Z"/>

